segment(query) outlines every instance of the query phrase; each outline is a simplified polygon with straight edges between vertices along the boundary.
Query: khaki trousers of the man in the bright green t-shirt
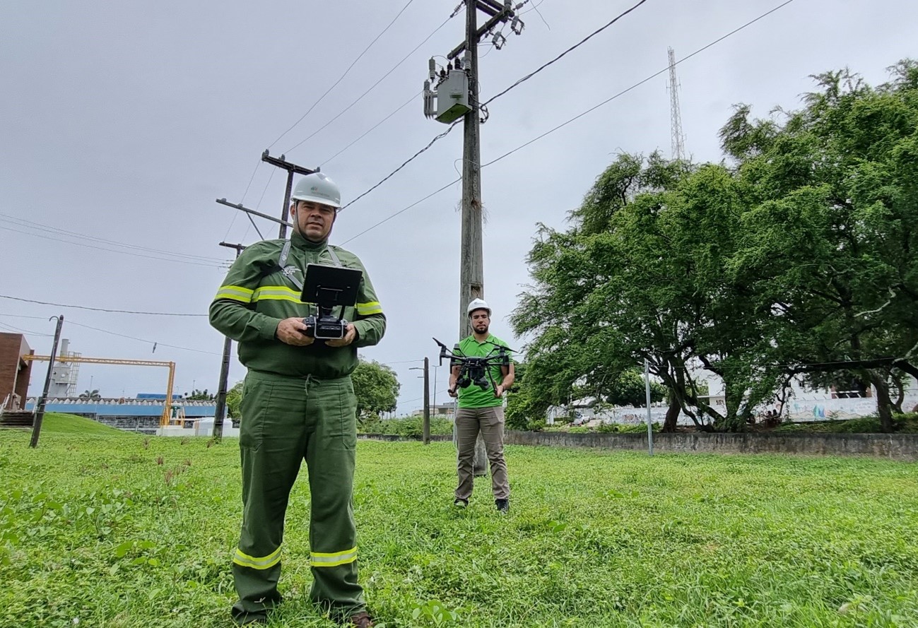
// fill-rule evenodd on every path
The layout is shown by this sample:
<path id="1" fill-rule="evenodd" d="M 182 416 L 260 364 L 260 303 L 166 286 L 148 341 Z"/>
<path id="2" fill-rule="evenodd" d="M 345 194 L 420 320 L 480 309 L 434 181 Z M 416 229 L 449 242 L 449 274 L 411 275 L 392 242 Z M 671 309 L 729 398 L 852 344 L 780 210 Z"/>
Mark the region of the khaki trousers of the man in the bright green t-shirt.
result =
<path id="1" fill-rule="evenodd" d="M 475 487 L 473 463 L 475 442 L 481 432 L 485 441 L 487 460 L 491 465 L 491 490 L 494 499 L 509 499 L 510 486 L 507 480 L 507 463 L 504 462 L 504 409 L 460 408 L 456 410 L 456 447 L 459 486 L 456 499 L 469 499 Z"/>

